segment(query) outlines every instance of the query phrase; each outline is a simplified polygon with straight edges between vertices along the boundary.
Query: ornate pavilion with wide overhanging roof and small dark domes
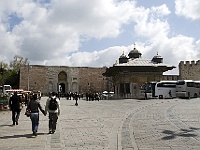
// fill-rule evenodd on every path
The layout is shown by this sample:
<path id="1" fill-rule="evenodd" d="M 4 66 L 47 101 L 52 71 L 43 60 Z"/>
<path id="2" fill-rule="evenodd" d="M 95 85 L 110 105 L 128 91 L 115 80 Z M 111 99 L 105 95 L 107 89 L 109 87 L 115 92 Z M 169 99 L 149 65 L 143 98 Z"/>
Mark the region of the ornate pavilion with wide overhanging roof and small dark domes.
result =
<path id="1" fill-rule="evenodd" d="M 163 58 L 158 54 L 151 60 L 143 59 L 141 53 L 134 48 L 128 54 L 124 53 L 113 67 L 107 68 L 104 76 L 112 77 L 115 96 L 117 98 L 143 98 L 143 85 L 145 82 L 160 81 L 163 72 L 175 66 L 163 63 Z"/>

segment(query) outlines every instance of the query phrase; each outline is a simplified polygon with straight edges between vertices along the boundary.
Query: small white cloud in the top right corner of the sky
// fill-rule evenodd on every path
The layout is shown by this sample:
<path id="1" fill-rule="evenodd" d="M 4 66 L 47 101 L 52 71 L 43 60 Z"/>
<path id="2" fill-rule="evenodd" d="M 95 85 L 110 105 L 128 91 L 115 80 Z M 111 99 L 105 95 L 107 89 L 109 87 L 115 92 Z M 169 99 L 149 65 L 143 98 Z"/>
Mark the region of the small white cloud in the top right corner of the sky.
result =
<path id="1" fill-rule="evenodd" d="M 200 19 L 200 1 L 199 0 L 176 0 L 176 14 L 185 16 L 192 20 Z"/>

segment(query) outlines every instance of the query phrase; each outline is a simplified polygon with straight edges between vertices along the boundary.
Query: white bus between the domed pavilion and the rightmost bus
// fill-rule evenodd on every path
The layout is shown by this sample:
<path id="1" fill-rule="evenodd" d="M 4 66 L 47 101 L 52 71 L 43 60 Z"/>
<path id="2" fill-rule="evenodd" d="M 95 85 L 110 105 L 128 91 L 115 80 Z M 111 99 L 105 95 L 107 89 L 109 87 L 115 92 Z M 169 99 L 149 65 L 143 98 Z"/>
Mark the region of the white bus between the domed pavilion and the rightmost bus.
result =
<path id="1" fill-rule="evenodd" d="M 155 86 L 155 96 L 159 99 L 176 97 L 177 81 L 160 81 Z"/>

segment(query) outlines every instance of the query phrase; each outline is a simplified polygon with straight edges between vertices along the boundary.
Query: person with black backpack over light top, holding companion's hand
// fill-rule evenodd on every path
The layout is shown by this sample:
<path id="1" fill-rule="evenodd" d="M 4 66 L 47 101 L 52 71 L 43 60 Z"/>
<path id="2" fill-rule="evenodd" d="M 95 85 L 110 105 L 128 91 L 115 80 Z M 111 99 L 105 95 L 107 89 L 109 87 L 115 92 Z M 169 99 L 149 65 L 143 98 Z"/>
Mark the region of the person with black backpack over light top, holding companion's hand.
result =
<path id="1" fill-rule="evenodd" d="M 49 113 L 49 134 L 53 134 L 56 131 L 56 124 L 60 115 L 60 101 L 56 98 L 55 92 L 52 92 L 47 99 L 45 112 Z"/>

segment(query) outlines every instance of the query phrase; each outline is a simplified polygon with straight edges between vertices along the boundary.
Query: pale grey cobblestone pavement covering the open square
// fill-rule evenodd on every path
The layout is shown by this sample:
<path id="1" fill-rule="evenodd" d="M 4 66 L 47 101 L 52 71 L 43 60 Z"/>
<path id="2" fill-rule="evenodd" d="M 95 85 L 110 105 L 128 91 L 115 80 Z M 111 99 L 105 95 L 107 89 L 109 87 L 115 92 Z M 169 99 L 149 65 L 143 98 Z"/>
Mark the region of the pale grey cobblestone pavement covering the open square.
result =
<path id="1" fill-rule="evenodd" d="M 0 111 L 0 150 L 200 150 L 200 98 L 60 101 L 56 132 L 40 113 L 37 137 L 25 107 L 17 126 Z"/>

